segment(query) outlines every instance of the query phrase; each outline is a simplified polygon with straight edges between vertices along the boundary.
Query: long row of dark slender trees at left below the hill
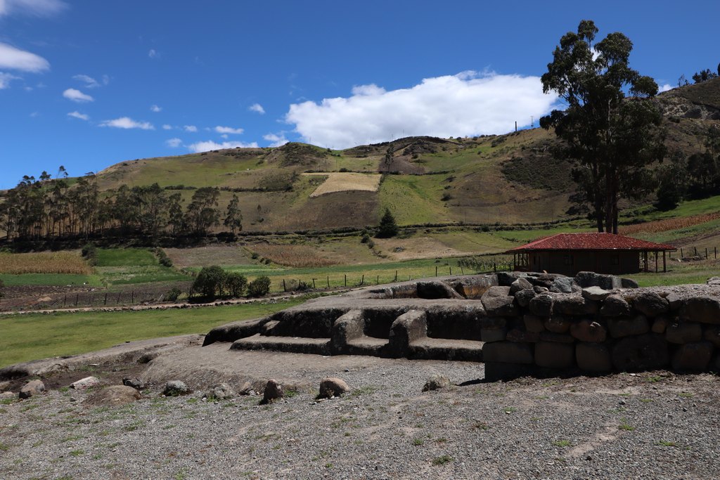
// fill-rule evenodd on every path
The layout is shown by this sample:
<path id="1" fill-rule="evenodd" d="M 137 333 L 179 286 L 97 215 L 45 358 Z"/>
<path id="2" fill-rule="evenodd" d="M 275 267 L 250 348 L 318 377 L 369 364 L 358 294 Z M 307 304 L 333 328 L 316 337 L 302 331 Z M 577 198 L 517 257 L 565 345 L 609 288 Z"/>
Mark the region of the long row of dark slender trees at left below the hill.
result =
<path id="1" fill-rule="evenodd" d="M 0 201 L 0 230 L 8 240 L 58 240 L 109 235 L 204 236 L 222 225 L 235 235 L 243 229 L 238 196 L 225 209 L 214 187 L 194 190 L 185 204 L 181 194 L 158 184 L 121 185 L 100 192 L 94 173 L 68 178 L 62 166 L 58 178 L 43 171 L 39 178 L 23 176 Z"/>

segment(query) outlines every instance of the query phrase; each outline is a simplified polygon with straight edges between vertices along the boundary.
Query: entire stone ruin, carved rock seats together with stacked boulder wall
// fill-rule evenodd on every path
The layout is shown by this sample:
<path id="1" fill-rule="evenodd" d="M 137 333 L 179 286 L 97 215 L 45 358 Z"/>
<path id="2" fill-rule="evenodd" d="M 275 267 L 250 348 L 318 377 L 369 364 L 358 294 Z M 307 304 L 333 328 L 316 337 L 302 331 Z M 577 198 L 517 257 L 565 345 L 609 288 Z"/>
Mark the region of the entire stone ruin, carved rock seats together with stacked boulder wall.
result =
<path id="1" fill-rule="evenodd" d="M 711 282 L 712 283 L 712 282 Z M 205 344 L 485 362 L 485 377 L 720 371 L 720 285 L 636 288 L 580 272 L 498 273 L 367 288 L 218 327 Z"/>

